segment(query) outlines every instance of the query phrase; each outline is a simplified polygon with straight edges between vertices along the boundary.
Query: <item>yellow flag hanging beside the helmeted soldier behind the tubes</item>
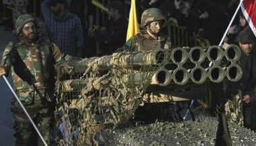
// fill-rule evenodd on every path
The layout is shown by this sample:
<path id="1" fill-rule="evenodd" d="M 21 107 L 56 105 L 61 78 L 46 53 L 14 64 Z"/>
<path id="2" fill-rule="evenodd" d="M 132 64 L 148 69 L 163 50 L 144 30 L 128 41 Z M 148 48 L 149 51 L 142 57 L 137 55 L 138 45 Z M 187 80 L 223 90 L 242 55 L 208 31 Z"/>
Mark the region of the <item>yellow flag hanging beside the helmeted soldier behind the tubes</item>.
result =
<path id="1" fill-rule="evenodd" d="M 129 14 L 129 24 L 127 29 L 126 41 L 128 41 L 132 35 L 138 32 L 139 32 L 139 24 L 137 22 L 135 0 L 131 0 L 131 9 Z"/>

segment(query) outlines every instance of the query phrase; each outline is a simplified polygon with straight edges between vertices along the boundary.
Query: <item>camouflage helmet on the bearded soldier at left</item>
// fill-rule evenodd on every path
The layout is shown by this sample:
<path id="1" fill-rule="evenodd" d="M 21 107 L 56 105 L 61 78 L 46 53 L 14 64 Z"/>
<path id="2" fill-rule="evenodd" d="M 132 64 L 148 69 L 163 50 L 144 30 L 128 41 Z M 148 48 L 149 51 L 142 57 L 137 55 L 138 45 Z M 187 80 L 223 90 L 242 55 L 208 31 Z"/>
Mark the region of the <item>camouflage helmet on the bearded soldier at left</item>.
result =
<path id="1" fill-rule="evenodd" d="M 15 22 L 15 31 L 16 34 L 19 35 L 20 32 L 22 31 L 22 28 L 24 27 L 24 25 L 28 22 L 35 22 L 36 20 L 28 14 L 24 14 L 24 15 L 20 15 L 20 17 L 18 17 L 18 19 Z"/>

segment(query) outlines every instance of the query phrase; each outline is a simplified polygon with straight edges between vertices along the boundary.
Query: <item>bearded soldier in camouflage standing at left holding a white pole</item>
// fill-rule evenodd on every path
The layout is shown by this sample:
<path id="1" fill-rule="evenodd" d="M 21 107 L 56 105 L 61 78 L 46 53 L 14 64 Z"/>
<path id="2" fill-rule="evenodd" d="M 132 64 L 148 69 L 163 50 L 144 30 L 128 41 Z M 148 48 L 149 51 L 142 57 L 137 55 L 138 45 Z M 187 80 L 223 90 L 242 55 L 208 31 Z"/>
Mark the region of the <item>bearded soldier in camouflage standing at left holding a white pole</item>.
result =
<path id="1" fill-rule="evenodd" d="M 67 56 L 51 42 L 38 38 L 35 19 L 24 14 L 15 23 L 18 42 L 11 42 L 3 52 L 0 76 L 11 70 L 13 88 L 48 145 L 53 124 L 53 65 Z M 43 145 L 18 101 L 11 102 L 16 145 Z M 33 140 L 34 139 L 34 140 Z M 33 143 L 37 141 L 37 143 Z"/>

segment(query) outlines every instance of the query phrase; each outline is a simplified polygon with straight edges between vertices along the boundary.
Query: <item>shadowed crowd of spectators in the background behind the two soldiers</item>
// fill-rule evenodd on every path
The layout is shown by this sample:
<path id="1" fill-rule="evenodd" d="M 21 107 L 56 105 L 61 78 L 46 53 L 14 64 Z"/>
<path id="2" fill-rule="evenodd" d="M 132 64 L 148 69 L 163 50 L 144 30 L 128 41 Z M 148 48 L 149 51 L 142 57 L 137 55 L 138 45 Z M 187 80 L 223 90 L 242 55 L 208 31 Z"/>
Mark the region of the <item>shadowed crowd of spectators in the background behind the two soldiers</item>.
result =
<path id="1" fill-rule="evenodd" d="M 32 6 L 32 3 L 29 2 L 31 1 L 3 0 L 4 5 L 12 7 L 12 10 L 7 11 L 9 21 L 5 23 L 2 21 L 7 26 L 6 29 L 13 30 L 14 25 L 10 24 L 14 24 L 19 15 L 29 13 L 29 10 L 26 9 L 28 5 Z M 102 15 L 108 19 L 106 22 L 100 19 L 100 21 L 104 21 L 102 22 L 104 25 L 100 26 L 98 30 L 94 29 L 96 17 L 98 17 L 96 9 L 98 8 L 92 5 L 92 1 L 43 0 L 37 15 L 39 16 L 38 20 L 44 23 L 44 35 L 60 46 L 64 53 L 79 57 L 103 56 L 112 54 L 125 43 L 129 11 L 124 11 L 127 6 L 124 2 L 110 0 L 109 3 L 106 3 L 105 7 L 109 11 L 107 13 L 102 11 Z M 201 38 L 209 40 L 210 44 L 217 45 L 220 43 L 238 2 L 238 0 L 139 0 L 136 1 L 136 7 L 137 17 L 141 17 L 141 13 L 145 9 L 159 8 L 164 13 L 166 20 L 185 26 L 188 32 L 197 33 Z M 62 5 L 57 3 L 62 3 Z M 138 22 L 140 23 L 140 19 Z M 243 29 L 238 16 L 233 24 L 231 29 L 236 29 L 236 31 L 240 28 Z M 231 31 L 228 33 L 230 35 L 226 41 L 236 40 L 237 44 L 237 37 L 232 38 L 234 35 L 231 35 L 236 31 Z M 69 33 L 69 38 L 64 35 L 65 33 Z"/>

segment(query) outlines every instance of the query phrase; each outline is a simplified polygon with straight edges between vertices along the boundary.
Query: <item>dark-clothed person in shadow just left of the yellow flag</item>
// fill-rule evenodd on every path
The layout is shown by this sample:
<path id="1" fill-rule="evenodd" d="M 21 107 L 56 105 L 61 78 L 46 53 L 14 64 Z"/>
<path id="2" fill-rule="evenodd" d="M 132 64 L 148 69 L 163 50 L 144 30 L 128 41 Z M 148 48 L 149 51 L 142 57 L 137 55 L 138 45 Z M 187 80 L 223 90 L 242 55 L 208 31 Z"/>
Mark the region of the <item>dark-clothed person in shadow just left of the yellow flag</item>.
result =
<path id="1" fill-rule="evenodd" d="M 96 41 L 100 42 L 98 56 L 113 54 L 125 44 L 128 21 L 123 11 L 124 6 L 120 1 L 113 1 L 108 6 L 108 23 L 94 34 Z"/>

